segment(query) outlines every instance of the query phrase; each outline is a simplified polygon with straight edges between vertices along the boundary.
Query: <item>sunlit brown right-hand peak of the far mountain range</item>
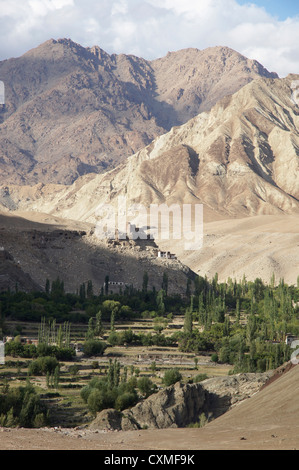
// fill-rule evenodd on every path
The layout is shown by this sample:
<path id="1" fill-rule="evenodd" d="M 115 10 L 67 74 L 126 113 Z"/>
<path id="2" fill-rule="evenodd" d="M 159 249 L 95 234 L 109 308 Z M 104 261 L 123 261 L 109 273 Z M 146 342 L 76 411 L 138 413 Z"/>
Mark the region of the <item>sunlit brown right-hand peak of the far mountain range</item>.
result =
<path id="1" fill-rule="evenodd" d="M 172 125 L 209 111 L 220 98 L 235 93 L 253 78 L 278 78 L 257 61 L 222 46 L 169 52 L 151 66 L 158 101 L 176 111 L 177 122 L 170 118 Z"/>

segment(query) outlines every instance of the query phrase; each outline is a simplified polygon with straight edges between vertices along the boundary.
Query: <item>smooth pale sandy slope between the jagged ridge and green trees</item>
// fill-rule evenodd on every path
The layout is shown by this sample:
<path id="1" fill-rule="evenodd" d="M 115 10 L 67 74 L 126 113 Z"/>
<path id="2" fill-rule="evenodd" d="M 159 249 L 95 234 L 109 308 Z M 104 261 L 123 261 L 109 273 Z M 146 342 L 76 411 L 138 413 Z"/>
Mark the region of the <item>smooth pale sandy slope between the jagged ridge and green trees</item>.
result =
<path id="1" fill-rule="evenodd" d="M 203 246 L 186 251 L 183 240 L 160 242 L 169 247 L 195 273 L 237 281 L 245 274 L 248 280 L 257 277 L 269 282 L 284 278 L 296 284 L 299 275 L 299 222 L 288 215 L 261 215 L 241 219 L 214 220 L 203 223 Z"/>

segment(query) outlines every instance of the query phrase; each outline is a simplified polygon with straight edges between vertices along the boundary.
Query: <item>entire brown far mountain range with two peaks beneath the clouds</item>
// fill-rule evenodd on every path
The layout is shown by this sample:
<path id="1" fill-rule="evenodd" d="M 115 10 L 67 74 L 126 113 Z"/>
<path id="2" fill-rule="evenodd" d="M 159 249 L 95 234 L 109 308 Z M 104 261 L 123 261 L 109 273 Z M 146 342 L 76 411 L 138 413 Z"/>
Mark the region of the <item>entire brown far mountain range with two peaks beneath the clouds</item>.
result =
<path id="1" fill-rule="evenodd" d="M 0 62 L 0 182 L 102 173 L 261 76 L 277 77 L 225 47 L 146 61 L 49 40 Z"/>

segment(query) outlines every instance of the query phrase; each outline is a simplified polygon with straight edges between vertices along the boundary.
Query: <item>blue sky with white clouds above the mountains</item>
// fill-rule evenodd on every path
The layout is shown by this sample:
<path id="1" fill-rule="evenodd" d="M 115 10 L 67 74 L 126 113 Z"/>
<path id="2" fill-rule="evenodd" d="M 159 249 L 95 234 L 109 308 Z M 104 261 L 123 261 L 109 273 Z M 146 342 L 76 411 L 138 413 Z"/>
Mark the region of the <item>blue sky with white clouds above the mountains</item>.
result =
<path id="1" fill-rule="evenodd" d="M 148 60 L 227 46 L 284 77 L 299 74 L 299 1 L 0 0 L 0 60 L 51 38 Z"/>

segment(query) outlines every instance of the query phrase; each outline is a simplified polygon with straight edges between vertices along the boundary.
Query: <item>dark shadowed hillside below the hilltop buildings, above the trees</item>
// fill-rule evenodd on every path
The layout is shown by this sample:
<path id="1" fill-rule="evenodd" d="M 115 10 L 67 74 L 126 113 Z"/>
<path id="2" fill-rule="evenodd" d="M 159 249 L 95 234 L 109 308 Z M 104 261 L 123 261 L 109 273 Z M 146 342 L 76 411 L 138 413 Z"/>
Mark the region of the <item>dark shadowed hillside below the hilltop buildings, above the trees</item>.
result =
<path id="1" fill-rule="evenodd" d="M 65 221 L 47 214 L 0 213 L 0 248 L 10 253 L 12 261 L 2 261 L 0 250 L 0 290 L 32 290 L 45 287 L 46 279 L 63 279 L 67 292 L 76 292 L 91 280 L 99 293 L 106 275 L 110 281 L 142 288 L 148 273 L 150 288 L 161 288 L 164 272 L 169 278 L 169 292 L 185 293 L 187 279 L 194 274 L 178 260 L 161 260 L 153 241 L 108 243 L 94 235 L 92 225 Z M 26 273 L 26 276 L 23 274 Z M 1 276 L 1 275 L 4 275 Z M 30 282 L 30 278 L 31 282 Z M 33 281 L 32 281 L 33 280 Z M 118 292 L 119 290 L 117 290 Z"/>

